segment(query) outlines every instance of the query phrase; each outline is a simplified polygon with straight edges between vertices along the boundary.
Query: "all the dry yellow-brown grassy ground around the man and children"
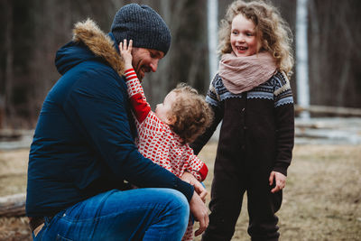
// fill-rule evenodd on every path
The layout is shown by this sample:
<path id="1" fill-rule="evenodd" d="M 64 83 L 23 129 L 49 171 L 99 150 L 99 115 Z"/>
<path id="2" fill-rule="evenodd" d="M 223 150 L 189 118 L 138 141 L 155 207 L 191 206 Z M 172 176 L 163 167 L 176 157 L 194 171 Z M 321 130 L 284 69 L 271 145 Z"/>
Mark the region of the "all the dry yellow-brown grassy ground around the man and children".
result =
<path id="1" fill-rule="evenodd" d="M 216 148 L 208 144 L 200 153 L 209 191 Z M 26 190 L 28 152 L 0 151 L 0 196 Z M 278 212 L 280 240 L 361 240 L 361 145 L 302 144 L 293 155 Z M 244 208 L 232 240 L 249 240 L 247 223 Z M 27 218 L 0 218 L 0 240 L 31 240 Z"/>

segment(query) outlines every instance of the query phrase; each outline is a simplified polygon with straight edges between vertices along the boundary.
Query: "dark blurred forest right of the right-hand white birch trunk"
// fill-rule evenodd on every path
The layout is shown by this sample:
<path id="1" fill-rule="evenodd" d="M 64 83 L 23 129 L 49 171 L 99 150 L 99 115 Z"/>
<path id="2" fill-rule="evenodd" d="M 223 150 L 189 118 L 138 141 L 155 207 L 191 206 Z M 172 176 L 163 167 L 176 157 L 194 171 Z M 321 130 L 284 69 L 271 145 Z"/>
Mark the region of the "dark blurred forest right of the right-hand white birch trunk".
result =
<path id="1" fill-rule="evenodd" d="M 361 3 L 310 1 L 310 97 L 313 104 L 360 107 Z M 358 74 L 357 74 L 358 73 Z M 358 103 L 358 104 L 357 104 Z"/>

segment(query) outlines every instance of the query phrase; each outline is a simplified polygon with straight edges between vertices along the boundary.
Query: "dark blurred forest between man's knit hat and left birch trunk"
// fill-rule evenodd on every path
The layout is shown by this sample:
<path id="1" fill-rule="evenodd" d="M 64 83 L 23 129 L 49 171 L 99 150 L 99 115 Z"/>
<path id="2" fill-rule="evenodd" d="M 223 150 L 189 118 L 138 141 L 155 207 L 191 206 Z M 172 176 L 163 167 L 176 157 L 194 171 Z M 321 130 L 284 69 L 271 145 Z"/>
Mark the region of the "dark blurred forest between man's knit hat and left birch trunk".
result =
<path id="1" fill-rule="evenodd" d="M 158 70 L 143 81 L 148 101 L 154 106 L 179 82 L 204 91 L 208 81 L 207 23 L 205 0 L 160 0 L 151 5 L 171 30 L 171 49 Z M 200 27 L 201 26 L 201 27 Z"/>

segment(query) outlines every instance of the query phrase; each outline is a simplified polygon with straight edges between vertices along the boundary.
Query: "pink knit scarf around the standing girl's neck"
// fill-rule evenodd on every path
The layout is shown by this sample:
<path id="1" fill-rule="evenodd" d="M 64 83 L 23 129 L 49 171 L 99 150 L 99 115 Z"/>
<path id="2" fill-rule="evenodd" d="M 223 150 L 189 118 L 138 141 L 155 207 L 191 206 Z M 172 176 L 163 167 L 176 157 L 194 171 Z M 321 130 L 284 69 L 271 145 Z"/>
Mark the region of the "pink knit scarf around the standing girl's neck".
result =
<path id="1" fill-rule="evenodd" d="M 263 84 L 276 69 L 273 56 L 266 51 L 246 57 L 236 57 L 232 51 L 223 54 L 219 61 L 219 76 L 225 87 L 234 94 Z"/>

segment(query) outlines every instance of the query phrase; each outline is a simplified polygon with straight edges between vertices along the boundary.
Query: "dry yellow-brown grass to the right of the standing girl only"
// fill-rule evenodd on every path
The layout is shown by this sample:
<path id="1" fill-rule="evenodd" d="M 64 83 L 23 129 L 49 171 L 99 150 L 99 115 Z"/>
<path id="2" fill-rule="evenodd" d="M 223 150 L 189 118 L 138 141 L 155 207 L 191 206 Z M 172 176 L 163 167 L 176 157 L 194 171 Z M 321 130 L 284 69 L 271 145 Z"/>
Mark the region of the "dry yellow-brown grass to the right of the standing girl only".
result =
<path id="1" fill-rule="evenodd" d="M 360 146 L 296 146 L 279 213 L 282 240 L 361 239 Z"/>

